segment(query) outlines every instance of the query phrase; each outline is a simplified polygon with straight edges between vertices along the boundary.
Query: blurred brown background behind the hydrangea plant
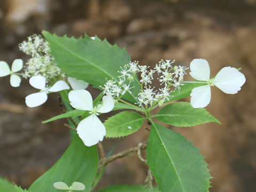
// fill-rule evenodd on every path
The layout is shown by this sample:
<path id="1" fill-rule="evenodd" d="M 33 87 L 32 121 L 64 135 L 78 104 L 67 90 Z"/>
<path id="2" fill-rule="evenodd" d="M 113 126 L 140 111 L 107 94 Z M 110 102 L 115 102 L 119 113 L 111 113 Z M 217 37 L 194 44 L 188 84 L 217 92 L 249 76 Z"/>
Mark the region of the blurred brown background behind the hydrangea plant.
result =
<path id="1" fill-rule="evenodd" d="M 132 60 L 155 65 L 175 59 L 189 65 L 207 59 L 211 76 L 224 66 L 241 67 L 246 76 L 242 91 L 227 95 L 213 87 L 207 110 L 216 123 L 175 128 L 201 149 L 209 164 L 211 191 L 255 191 L 255 0 L 0 0 L 0 60 L 26 61 L 18 43 L 43 29 L 58 35 L 107 38 L 126 47 Z M 62 155 L 69 145 L 66 121 L 41 124 L 60 114 L 58 95 L 51 94 L 41 107 L 28 108 L 26 95 L 35 92 L 27 81 L 18 88 L 0 79 L 0 177 L 28 187 Z M 106 152 L 134 147 L 147 138 L 141 129 L 121 140 L 105 140 Z M 109 164 L 100 186 L 142 183 L 147 166 L 133 155 Z M 86 173 L 85 173 L 86 174 Z M 194 191 L 193 191 L 194 192 Z"/>

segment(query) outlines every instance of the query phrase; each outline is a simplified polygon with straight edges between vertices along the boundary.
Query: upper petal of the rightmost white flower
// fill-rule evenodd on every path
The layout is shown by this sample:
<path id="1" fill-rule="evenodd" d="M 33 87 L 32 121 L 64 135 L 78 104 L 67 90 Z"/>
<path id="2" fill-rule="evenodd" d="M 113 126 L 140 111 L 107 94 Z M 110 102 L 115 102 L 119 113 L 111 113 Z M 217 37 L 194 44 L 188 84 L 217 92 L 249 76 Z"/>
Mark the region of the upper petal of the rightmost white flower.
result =
<path id="1" fill-rule="evenodd" d="M 205 59 L 193 59 L 190 62 L 189 73 L 191 77 L 198 81 L 209 81 L 210 80 L 210 67 L 209 63 Z"/>

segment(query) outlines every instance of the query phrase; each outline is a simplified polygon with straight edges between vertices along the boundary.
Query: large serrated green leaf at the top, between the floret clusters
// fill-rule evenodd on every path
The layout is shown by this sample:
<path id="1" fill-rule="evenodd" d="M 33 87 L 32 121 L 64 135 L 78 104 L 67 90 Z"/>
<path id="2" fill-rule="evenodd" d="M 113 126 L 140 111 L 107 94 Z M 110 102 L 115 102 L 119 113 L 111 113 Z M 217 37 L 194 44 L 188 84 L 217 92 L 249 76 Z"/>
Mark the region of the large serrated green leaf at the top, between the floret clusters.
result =
<path id="1" fill-rule="evenodd" d="M 78 39 L 59 37 L 47 31 L 43 31 L 43 35 L 50 44 L 54 62 L 64 73 L 82 79 L 98 89 L 106 83 L 106 78 L 119 81 L 120 74 L 117 71 L 131 61 L 125 49 L 109 44 L 106 39 L 101 41 L 96 37 L 93 40 L 86 34 L 84 38 Z M 127 92 L 124 98 L 135 102 L 140 86 L 137 81 L 133 81 L 131 86 L 134 86 L 130 90 L 133 94 Z"/>

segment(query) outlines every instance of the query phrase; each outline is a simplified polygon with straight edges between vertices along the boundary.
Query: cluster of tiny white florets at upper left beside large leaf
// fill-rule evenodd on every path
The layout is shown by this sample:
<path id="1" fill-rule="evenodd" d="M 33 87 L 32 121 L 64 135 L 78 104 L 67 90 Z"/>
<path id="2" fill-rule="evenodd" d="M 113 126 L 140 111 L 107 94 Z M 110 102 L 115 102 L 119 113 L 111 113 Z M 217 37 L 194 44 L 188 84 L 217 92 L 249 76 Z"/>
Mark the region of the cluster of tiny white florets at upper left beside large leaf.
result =
<path id="1" fill-rule="evenodd" d="M 26 63 L 23 77 L 41 75 L 49 80 L 60 75 L 60 68 L 53 62 L 50 47 L 41 36 L 29 36 L 28 41 L 19 44 L 19 49 L 32 57 Z"/>

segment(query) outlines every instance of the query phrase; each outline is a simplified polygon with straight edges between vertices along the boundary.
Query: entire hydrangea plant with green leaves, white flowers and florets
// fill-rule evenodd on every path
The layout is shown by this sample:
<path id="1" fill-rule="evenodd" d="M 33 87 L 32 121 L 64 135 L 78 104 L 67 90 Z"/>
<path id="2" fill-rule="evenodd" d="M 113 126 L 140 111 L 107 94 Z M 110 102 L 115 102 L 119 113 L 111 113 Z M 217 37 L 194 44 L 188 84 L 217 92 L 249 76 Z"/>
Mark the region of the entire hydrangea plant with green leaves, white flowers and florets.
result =
<path id="1" fill-rule="evenodd" d="M 175 65 L 174 60 L 160 60 L 150 68 L 131 61 L 124 49 L 97 36 L 90 38 L 85 34 L 76 39 L 47 31 L 43 35 L 44 38 L 30 36 L 19 45 L 22 52 L 31 56 L 22 74 L 17 74 L 22 60 L 14 60 L 11 70 L 6 62 L 0 61 L 0 76 L 11 75 L 12 86 L 19 86 L 18 75 L 22 75 L 39 90 L 26 97 L 28 107 L 42 105 L 47 94 L 59 92 L 65 113 L 43 123 L 67 118 L 65 125 L 72 133 L 66 152 L 28 191 L 93 191 L 110 162 L 132 153 L 137 153 L 148 165 L 145 183 L 99 191 L 209 191 L 212 177 L 204 156 L 185 137 L 163 124 L 190 127 L 220 123 L 204 109 L 211 100 L 210 87 L 217 86 L 227 94 L 237 93 L 245 83 L 238 69 L 224 67 L 210 78 L 209 63 L 204 59 L 192 60 L 190 68 Z M 196 80 L 184 81 L 187 74 Z M 101 90 L 94 100 L 85 90 L 88 84 Z M 187 97 L 191 97 L 190 102 L 179 101 Z M 110 111 L 116 114 L 109 114 L 102 122 L 100 115 Z M 146 141 L 122 153 L 105 156 L 101 143 L 104 137 L 125 137 L 144 129 L 143 122 L 147 122 L 145 131 L 150 132 Z M 142 157 L 141 150 L 147 151 L 146 157 Z M 157 186 L 153 186 L 154 178 Z M 3 183 L 1 190 L 10 187 Z M 17 190 L 25 191 L 16 187 L 14 191 Z"/>

